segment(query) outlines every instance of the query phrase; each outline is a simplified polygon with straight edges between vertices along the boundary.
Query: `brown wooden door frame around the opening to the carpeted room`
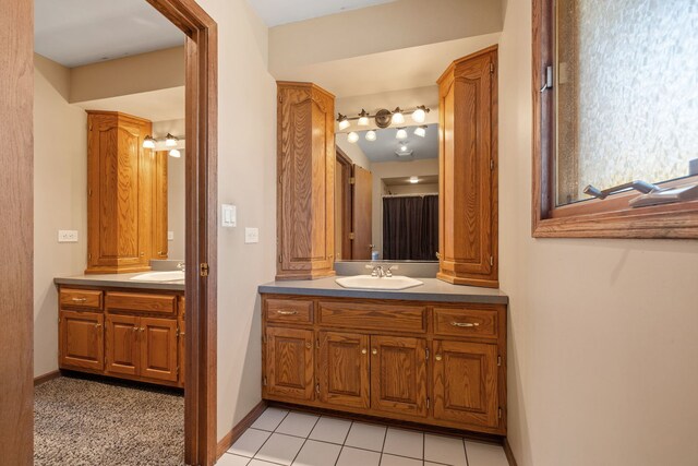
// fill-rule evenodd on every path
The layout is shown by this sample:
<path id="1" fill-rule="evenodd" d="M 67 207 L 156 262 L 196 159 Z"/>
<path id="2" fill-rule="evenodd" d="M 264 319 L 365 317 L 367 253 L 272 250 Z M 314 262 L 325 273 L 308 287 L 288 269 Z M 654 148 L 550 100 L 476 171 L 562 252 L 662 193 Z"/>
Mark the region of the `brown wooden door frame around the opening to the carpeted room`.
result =
<path id="1" fill-rule="evenodd" d="M 146 0 L 178 26 L 185 44 L 185 461 L 216 462 L 217 25 L 194 0 Z M 34 2 L 0 7 L 0 451 L 33 463 Z"/>

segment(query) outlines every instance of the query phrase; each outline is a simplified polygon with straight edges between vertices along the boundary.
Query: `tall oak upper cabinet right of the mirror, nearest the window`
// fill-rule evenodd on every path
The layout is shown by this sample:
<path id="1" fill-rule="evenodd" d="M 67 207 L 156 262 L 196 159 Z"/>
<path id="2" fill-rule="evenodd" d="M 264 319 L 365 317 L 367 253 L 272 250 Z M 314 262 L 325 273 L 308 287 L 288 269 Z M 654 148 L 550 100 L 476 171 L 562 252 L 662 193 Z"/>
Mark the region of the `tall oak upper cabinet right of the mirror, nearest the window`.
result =
<path id="1" fill-rule="evenodd" d="M 456 60 L 438 80 L 440 272 L 498 287 L 497 48 Z"/>

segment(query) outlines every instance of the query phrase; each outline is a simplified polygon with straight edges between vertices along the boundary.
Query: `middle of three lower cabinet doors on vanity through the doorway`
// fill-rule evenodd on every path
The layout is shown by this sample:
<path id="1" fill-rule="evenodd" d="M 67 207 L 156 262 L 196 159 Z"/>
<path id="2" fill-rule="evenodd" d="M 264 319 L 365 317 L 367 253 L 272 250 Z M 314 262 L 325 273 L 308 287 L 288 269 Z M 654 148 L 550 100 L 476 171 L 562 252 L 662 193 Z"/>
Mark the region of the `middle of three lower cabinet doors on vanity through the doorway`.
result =
<path id="1" fill-rule="evenodd" d="M 139 318 L 107 314 L 107 353 L 105 371 L 128 375 L 139 374 Z"/>

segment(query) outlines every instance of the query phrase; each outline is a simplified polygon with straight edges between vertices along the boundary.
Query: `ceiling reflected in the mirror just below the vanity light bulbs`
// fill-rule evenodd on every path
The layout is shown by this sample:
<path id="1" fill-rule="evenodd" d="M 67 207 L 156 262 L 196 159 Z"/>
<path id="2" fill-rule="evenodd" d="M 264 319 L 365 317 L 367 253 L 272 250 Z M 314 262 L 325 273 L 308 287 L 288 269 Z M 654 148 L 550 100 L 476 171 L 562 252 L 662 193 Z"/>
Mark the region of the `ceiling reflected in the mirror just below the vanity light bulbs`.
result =
<path id="1" fill-rule="evenodd" d="M 371 142 L 366 141 L 364 135 L 365 131 L 358 131 L 359 141 L 357 144 L 361 147 L 361 151 L 365 156 L 374 162 L 399 162 L 399 160 L 416 160 L 422 158 L 436 158 L 438 157 L 438 124 L 429 124 L 426 128 L 426 136 L 420 138 L 413 134 L 416 127 L 407 128 L 407 139 L 398 141 L 395 139 L 397 128 L 386 128 L 384 130 L 376 130 L 376 140 Z M 346 140 L 346 134 L 337 134 L 336 138 Z M 412 151 L 412 157 L 398 158 L 395 155 L 400 144 L 406 144 L 409 150 Z"/>

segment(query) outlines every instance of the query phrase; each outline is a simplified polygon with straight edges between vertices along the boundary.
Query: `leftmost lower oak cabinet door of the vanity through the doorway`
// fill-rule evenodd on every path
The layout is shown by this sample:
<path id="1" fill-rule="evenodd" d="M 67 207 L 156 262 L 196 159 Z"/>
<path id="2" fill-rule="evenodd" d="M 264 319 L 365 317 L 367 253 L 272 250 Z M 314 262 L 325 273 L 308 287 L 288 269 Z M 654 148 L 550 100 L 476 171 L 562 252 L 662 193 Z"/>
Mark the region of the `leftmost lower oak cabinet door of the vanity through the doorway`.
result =
<path id="1" fill-rule="evenodd" d="M 103 324 L 101 313 L 60 311 L 60 366 L 103 370 Z"/>

